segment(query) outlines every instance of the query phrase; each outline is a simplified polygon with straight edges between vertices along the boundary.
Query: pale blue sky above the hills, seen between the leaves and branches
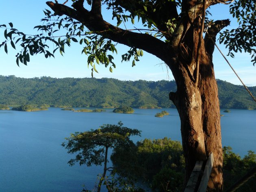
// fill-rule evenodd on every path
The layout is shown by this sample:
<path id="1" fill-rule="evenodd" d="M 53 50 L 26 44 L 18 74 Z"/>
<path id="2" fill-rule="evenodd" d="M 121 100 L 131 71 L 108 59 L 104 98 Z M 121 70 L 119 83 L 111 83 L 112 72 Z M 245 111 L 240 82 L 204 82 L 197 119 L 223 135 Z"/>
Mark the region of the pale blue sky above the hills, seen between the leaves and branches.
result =
<path id="1" fill-rule="evenodd" d="M 64 2 L 65 0 L 63 0 Z M 46 0 L 4 0 L 1 2 L 0 24 L 8 24 L 12 22 L 14 28 L 21 30 L 26 34 L 33 34 L 36 30 L 33 27 L 40 24 L 40 19 L 44 17 L 43 9 L 49 9 L 45 4 Z M 62 3 L 59 0 L 59 3 Z M 69 0 L 67 5 L 71 5 Z M 104 19 L 111 22 L 111 12 L 106 12 L 103 9 Z M 212 6 L 210 12 L 213 19 L 227 19 L 230 18 L 228 5 Z M 232 28 L 236 25 L 234 19 L 231 20 Z M 132 28 L 132 26 L 129 26 Z M 4 30 L 0 30 L 0 42 L 4 41 Z M 218 43 L 219 44 L 219 43 Z M 221 50 L 227 53 L 225 46 L 220 45 Z M 9 76 L 15 75 L 17 77 L 33 78 L 41 76 L 51 76 L 56 78 L 75 77 L 85 78 L 91 77 L 91 70 L 87 68 L 87 58 L 81 55 L 82 47 L 79 43 L 72 43 L 70 48 L 65 48 L 64 57 L 56 52 L 55 59 L 46 59 L 43 55 L 30 57 L 28 66 L 20 65 L 18 67 L 15 62 L 15 54 L 19 49 L 13 50 L 11 46 L 8 49 L 8 55 L 5 54 L 3 48 L 0 50 L 0 75 Z M 108 68 L 103 65 L 97 69 L 99 73 L 95 73 L 96 78 L 117 78 L 119 80 L 173 80 L 171 71 L 167 72 L 165 65 L 161 65 L 161 60 L 144 52 L 144 56 L 136 64 L 131 67 L 131 63 L 121 63 L 121 54 L 124 54 L 128 47 L 124 45 L 118 46 L 118 55 L 114 55 L 117 68 L 110 73 Z M 222 58 L 220 53 L 215 49 L 213 55 L 213 63 L 215 66 L 215 77 L 217 79 L 226 80 L 233 84 L 241 84 L 232 72 L 226 61 Z M 228 60 L 239 74 L 241 79 L 247 86 L 256 86 L 256 68 L 250 62 L 249 54 L 236 54 L 235 58 L 228 57 Z"/>

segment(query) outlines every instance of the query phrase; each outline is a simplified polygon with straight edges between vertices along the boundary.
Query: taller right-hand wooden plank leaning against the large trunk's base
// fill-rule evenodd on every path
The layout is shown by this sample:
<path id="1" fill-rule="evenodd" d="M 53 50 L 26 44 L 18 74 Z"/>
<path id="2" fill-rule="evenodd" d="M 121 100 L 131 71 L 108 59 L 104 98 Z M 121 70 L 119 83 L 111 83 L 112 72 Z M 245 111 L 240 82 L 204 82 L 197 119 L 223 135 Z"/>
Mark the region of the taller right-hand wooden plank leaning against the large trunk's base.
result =
<path id="1" fill-rule="evenodd" d="M 206 192 L 208 181 L 210 178 L 210 173 L 212 172 L 214 163 L 213 153 L 210 153 L 208 160 L 206 162 L 205 168 L 204 168 L 204 174 L 202 176 L 199 188 L 197 192 Z"/>

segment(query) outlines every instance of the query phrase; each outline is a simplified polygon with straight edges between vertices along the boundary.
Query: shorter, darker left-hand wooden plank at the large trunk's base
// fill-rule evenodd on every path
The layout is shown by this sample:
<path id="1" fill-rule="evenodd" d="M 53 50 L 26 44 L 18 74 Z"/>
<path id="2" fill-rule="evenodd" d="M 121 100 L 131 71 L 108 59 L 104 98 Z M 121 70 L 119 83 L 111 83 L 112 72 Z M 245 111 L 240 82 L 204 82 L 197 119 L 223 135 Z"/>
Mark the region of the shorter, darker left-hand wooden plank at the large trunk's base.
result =
<path id="1" fill-rule="evenodd" d="M 195 188 L 198 182 L 198 177 L 200 174 L 202 174 L 202 165 L 203 165 L 203 161 L 197 161 L 195 163 L 195 167 L 189 177 L 189 181 L 187 183 L 187 186 L 184 192 L 195 192 Z"/>

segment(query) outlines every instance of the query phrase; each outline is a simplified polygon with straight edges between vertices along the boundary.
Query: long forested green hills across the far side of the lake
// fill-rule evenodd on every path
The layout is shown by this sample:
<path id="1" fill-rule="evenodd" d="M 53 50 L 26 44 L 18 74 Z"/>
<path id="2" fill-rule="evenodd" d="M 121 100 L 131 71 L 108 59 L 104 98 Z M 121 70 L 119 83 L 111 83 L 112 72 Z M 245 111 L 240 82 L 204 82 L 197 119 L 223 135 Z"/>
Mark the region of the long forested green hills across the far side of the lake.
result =
<path id="1" fill-rule="evenodd" d="M 217 80 L 221 108 L 256 109 L 243 86 Z M 249 87 L 256 95 L 256 86 Z M 0 104 L 73 107 L 174 108 L 175 81 L 121 81 L 112 78 L 17 78 L 0 76 Z"/>

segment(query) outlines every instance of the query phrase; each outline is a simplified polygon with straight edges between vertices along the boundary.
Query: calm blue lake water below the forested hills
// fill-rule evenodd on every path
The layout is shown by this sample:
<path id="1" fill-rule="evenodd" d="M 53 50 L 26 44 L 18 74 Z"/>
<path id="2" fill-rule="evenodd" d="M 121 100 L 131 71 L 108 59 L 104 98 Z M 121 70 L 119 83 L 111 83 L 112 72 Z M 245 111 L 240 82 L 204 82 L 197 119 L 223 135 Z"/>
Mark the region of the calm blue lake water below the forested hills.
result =
<path id="1" fill-rule="evenodd" d="M 61 147 L 70 133 L 96 129 L 103 123 L 142 130 L 141 137 L 181 140 L 180 120 L 176 109 L 156 118 L 163 109 L 135 109 L 134 114 L 62 111 L 0 111 L 0 192 L 80 192 L 91 190 L 103 167 L 68 166 L 72 155 Z M 223 110 L 222 110 L 223 111 Z M 256 110 L 231 110 L 221 117 L 223 146 L 231 146 L 241 156 L 256 151 Z"/>

